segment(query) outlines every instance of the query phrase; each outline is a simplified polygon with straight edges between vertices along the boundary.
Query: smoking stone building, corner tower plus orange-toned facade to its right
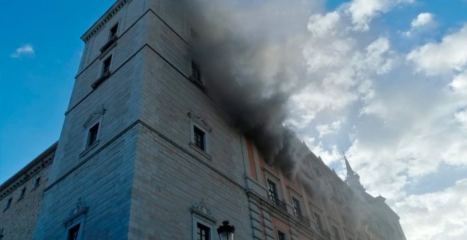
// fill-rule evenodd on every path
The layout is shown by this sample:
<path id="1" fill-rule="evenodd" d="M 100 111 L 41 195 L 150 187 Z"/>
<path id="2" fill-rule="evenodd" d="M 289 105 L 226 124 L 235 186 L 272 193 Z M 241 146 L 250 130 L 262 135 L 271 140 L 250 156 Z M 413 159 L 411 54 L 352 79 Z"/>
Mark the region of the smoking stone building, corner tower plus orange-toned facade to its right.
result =
<path id="1" fill-rule="evenodd" d="M 405 239 L 384 198 L 306 145 L 295 176 L 265 163 L 205 91 L 184 14 L 118 0 L 81 37 L 33 239 L 214 240 L 224 220 L 236 239 Z"/>

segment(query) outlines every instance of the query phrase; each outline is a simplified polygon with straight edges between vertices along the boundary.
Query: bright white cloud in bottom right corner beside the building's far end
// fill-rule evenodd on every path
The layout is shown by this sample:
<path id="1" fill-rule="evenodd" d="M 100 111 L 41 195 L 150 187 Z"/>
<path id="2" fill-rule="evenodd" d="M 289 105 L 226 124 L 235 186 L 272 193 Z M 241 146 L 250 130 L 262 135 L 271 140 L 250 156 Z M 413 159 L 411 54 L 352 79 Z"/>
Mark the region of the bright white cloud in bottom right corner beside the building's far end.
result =
<path id="1" fill-rule="evenodd" d="M 467 239 L 467 179 L 396 203 L 407 239 Z"/>

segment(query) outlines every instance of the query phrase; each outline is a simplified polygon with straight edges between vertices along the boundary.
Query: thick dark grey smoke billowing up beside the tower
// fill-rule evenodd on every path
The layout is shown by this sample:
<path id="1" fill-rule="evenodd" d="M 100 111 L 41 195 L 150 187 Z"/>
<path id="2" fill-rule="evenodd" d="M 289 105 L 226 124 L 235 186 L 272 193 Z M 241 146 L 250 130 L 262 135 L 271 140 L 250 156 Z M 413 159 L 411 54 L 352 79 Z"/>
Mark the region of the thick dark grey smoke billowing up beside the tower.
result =
<path id="1" fill-rule="evenodd" d="M 301 146 L 284 126 L 307 77 L 303 46 L 312 1 L 187 1 L 193 59 L 228 121 L 269 164 L 294 174 Z"/>

